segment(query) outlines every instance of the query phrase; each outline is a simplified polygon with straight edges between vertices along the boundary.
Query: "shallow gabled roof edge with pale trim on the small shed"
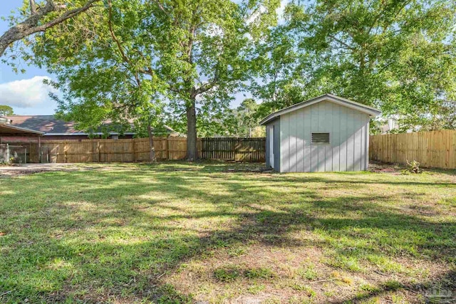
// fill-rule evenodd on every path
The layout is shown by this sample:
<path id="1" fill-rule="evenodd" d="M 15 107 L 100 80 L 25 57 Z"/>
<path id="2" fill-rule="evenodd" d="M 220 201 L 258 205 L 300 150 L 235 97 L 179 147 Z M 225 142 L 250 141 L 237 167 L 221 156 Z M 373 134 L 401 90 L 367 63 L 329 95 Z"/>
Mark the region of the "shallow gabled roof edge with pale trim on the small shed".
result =
<path id="1" fill-rule="evenodd" d="M 352 108 L 352 109 L 358 110 L 360 112 L 365 112 L 366 114 L 372 115 L 372 116 L 380 115 L 380 113 L 381 113 L 380 110 L 369 107 L 368 105 L 363 105 L 362 103 L 356 103 L 353 100 L 341 98 L 336 95 L 325 94 L 325 95 L 318 96 L 316 98 L 311 98 L 309 100 L 303 101 L 302 103 L 296 103 L 295 105 L 291 105 L 290 107 L 278 110 L 274 113 L 271 113 L 268 116 L 264 117 L 264 119 L 261 120 L 261 122 L 259 122 L 259 124 L 266 125 L 266 123 L 270 122 L 271 120 L 276 119 L 277 117 L 280 117 L 280 115 L 284 115 L 286 113 L 293 112 L 293 111 L 299 110 L 301 108 L 306 108 L 309 105 L 314 105 L 316 103 L 320 103 L 321 101 L 325 101 L 325 100 L 331 101 L 332 103 L 337 103 L 338 105 L 346 106 L 347 108 Z"/>

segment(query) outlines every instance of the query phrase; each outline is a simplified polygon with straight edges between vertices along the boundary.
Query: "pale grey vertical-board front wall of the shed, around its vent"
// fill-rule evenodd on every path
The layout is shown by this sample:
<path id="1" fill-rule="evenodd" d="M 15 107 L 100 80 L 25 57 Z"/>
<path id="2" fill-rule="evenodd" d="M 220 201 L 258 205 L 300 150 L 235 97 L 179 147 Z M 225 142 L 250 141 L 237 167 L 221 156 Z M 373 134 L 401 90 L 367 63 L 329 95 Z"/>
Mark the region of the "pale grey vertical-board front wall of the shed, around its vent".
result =
<path id="1" fill-rule="evenodd" d="M 368 168 L 370 116 L 322 101 L 280 116 L 280 172 L 360 171 Z M 329 132 L 329 144 L 311 144 Z"/>

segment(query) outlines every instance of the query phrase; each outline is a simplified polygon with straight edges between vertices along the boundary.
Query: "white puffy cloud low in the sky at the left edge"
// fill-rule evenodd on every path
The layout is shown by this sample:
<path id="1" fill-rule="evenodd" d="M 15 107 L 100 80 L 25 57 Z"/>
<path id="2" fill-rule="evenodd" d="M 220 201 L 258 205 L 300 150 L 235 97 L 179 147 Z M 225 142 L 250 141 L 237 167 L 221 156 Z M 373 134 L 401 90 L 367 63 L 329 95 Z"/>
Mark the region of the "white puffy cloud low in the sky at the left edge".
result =
<path id="1" fill-rule="evenodd" d="M 0 84 L 0 104 L 16 108 L 33 108 L 51 102 L 49 92 L 57 91 L 43 83 L 48 76 L 35 76 L 30 79 L 15 80 Z"/>

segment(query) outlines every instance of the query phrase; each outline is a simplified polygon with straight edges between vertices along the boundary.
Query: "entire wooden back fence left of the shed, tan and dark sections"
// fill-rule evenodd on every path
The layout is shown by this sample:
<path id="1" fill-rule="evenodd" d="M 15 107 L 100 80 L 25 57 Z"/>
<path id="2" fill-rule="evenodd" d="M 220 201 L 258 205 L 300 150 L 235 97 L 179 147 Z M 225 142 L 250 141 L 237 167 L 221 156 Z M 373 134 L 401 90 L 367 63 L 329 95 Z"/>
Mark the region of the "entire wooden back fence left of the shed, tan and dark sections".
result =
<path id="1" fill-rule="evenodd" d="M 264 162 L 265 138 L 201 138 L 197 141 L 202 159 Z M 27 142 L 28 162 L 145 162 L 150 160 L 148 138 L 131 140 L 46 140 Z M 157 159 L 184 159 L 187 138 L 154 137 Z"/>

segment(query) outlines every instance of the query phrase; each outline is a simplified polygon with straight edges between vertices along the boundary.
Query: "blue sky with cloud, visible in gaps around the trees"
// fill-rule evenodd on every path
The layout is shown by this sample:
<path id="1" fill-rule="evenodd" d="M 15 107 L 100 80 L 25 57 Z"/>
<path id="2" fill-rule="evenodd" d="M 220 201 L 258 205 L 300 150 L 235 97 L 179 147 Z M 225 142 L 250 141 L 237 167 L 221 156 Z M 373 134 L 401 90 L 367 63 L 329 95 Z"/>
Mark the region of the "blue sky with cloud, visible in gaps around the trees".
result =
<path id="1" fill-rule="evenodd" d="M 22 0 L 0 0 L 0 16 L 9 16 L 11 11 L 23 3 Z M 282 0 L 279 14 L 287 0 Z M 0 36 L 9 28 L 8 21 L 0 20 Z M 52 88 L 43 84 L 43 79 L 52 78 L 46 70 L 30 65 L 25 66 L 26 73 L 15 73 L 9 65 L 0 63 L 0 105 L 10 105 L 16 115 L 51 115 L 56 110 L 56 103 L 49 98 Z M 56 93 L 56 92 L 53 92 Z M 232 108 L 237 107 L 246 93 L 235 94 Z"/>

